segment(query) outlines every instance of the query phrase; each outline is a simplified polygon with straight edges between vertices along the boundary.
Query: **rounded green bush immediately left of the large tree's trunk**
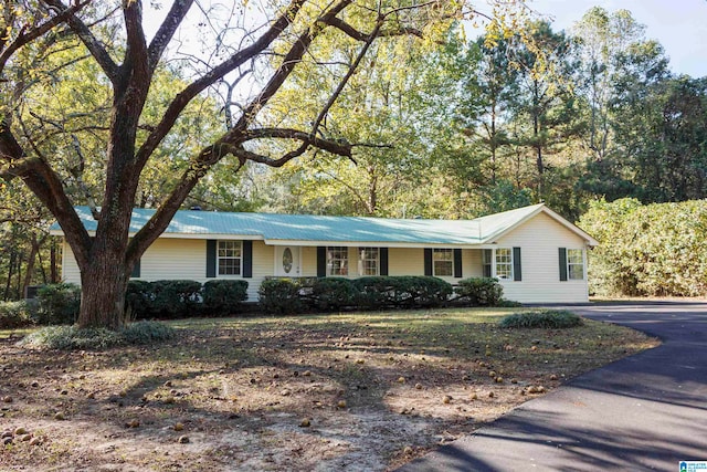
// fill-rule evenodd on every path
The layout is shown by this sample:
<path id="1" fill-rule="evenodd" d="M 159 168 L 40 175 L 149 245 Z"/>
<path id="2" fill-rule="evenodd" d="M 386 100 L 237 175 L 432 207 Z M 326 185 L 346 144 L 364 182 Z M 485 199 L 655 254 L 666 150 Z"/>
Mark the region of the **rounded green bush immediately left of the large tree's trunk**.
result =
<path id="1" fill-rule="evenodd" d="M 41 325 L 72 324 L 81 308 L 81 287 L 73 283 L 44 285 L 36 292 L 36 322 Z"/>

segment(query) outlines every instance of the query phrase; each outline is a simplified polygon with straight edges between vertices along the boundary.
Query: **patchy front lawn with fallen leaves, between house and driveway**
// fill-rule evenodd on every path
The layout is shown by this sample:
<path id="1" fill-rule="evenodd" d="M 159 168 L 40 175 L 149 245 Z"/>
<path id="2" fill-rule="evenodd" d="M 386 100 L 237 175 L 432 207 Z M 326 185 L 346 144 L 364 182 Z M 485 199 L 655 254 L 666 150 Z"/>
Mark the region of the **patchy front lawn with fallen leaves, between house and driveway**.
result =
<path id="1" fill-rule="evenodd" d="M 657 345 L 592 321 L 498 328 L 513 312 L 187 319 L 175 340 L 105 352 L 0 332 L 0 432 L 31 434 L 0 470 L 383 471 Z"/>

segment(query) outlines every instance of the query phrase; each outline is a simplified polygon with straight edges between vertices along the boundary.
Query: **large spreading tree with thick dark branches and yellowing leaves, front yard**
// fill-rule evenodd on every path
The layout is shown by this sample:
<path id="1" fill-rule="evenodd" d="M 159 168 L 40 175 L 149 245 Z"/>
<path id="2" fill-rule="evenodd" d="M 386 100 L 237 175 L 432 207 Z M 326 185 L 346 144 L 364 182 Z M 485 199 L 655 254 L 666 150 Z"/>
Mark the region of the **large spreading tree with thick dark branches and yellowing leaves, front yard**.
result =
<path id="1" fill-rule="evenodd" d="M 277 167 L 313 148 L 351 157 L 355 145 L 324 133 L 321 125 L 370 45 L 391 35 L 422 38 L 440 22 L 472 13 L 453 0 L 173 0 L 170 6 L 158 1 L 150 6 L 166 11 L 150 12 L 162 18 L 154 34 L 146 33 L 140 0 L 0 4 L 0 172 L 6 180 L 21 179 L 61 224 L 81 270 L 82 327 L 120 326 L 134 264 L 214 165 L 229 157 L 238 159 L 236 169 L 247 161 Z M 341 40 L 357 41 L 359 51 L 354 57 L 319 64 L 337 81 L 316 114 L 299 122 L 268 119 L 278 115 L 268 112 L 271 101 L 277 102 L 278 91 L 303 60 L 312 62 L 313 45 Z M 150 122 L 145 109 L 156 73 L 175 61 L 189 81 L 173 91 L 161 116 Z M 43 116 L 32 99 L 34 91 L 62 81 L 64 71 L 82 62 L 101 71 L 95 86 L 107 91 L 107 123 L 80 124 L 78 116 L 92 114 L 81 99 L 75 99 L 75 109 L 70 109 L 71 101 L 63 102 L 61 116 Z M 152 159 L 163 158 L 160 149 L 170 141 L 182 114 L 207 94 L 224 98 L 226 126 L 199 151 L 182 156 L 181 175 L 166 189 L 154 217 L 128 238 L 141 174 Z M 43 145 L 48 133 L 71 146 L 54 151 Z M 86 136 L 105 140 L 103 151 L 91 156 L 105 178 L 98 195 L 86 191 L 85 198 L 76 199 L 67 188 L 88 189 L 82 180 L 87 166 L 81 140 Z M 254 145 L 262 140 L 277 145 Z M 95 234 L 84 229 L 74 210 L 78 200 L 93 204 Z"/>

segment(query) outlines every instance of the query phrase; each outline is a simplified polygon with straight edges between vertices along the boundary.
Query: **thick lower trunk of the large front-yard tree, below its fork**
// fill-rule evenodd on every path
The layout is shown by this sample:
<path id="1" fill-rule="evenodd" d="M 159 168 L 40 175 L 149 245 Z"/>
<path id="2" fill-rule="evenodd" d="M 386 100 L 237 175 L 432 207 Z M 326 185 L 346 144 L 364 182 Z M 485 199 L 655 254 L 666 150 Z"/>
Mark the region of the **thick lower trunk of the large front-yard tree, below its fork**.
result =
<path id="1" fill-rule="evenodd" d="M 128 275 L 122 258 L 98 251 L 81 273 L 81 311 L 78 327 L 118 329 L 124 323 L 125 292 Z"/>

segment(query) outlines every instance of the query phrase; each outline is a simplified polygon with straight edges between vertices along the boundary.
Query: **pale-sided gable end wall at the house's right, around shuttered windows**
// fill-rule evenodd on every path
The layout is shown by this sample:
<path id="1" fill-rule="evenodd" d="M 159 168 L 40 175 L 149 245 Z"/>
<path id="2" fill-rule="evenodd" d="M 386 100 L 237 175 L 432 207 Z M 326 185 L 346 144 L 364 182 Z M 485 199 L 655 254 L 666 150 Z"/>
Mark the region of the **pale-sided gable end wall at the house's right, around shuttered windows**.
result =
<path id="1" fill-rule="evenodd" d="M 584 240 L 545 213 L 539 213 L 497 241 L 497 248 L 520 248 L 523 280 L 502 281 L 504 297 L 521 303 L 588 302 L 584 279 L 560 282 L 559 248 L 584 249 Z"/>

